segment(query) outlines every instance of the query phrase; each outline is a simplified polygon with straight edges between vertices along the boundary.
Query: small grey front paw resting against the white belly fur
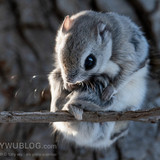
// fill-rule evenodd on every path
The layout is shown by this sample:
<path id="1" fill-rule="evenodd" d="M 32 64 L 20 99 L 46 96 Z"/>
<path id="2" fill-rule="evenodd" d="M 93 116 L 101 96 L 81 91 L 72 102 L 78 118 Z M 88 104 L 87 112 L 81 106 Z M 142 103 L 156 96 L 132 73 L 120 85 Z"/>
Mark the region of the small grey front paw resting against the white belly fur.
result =
<path id="1" fill-rule="evenodd" d="M 117 90 L 113 87 L 113 85 L 108 85 L 102 92 L 102 100 L 110 101 L 116 93 Z"/>

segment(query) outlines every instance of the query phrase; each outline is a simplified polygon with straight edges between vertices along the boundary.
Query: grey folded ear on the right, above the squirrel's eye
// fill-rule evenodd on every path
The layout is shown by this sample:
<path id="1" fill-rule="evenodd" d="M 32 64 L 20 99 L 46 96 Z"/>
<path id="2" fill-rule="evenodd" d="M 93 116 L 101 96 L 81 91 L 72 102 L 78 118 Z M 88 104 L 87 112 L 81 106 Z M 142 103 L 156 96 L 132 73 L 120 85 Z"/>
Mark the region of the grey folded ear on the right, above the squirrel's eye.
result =
<path id="1" fill-rule="evenodd" d="M 98 39 L 100 39 L 102 43 L 108 41 L 111 38 L 111 32 L 107 27 L 107 24 L 99 22 L 96 29 Z"/>

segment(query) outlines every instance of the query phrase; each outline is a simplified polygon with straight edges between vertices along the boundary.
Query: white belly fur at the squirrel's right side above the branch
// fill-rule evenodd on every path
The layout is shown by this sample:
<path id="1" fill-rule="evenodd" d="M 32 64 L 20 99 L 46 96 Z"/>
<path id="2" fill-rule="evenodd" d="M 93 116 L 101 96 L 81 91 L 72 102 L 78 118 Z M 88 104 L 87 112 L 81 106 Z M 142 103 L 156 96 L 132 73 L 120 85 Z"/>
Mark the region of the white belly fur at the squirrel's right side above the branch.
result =
<path id="1" fill-rule="evenodd" d="M 134 73 L 115 96 L 114 103 L 106 110 L 123 111 L 141 108 L 147 89 L 147 66 Z"/>

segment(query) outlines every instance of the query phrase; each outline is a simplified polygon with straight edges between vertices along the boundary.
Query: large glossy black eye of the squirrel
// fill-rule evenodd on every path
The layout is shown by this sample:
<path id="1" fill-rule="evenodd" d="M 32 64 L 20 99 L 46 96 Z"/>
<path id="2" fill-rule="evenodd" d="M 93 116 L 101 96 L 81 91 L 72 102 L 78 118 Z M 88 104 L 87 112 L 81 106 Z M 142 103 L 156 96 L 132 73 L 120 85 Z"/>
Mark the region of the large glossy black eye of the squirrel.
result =
<path id="1" fill-rule="evenodd" d="M 90 70 L 96 65 L 96 57 L 93 54 L 90 54 L 85 60 L 85 70 Z"/>

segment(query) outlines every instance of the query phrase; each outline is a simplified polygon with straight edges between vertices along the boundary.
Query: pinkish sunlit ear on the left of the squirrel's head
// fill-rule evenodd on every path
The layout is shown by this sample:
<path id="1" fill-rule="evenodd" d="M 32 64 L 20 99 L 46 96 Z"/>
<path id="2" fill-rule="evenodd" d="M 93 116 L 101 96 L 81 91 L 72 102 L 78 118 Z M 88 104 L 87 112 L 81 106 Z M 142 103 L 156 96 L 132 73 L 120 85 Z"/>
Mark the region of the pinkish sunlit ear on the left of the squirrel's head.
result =
<path id="1" fill-rule="evenodd" d="M 67 15 L 62 24 L 62 32 L 66 33 L 72 27 L 73 21 L 70 19 L 69 15 Z"/>

